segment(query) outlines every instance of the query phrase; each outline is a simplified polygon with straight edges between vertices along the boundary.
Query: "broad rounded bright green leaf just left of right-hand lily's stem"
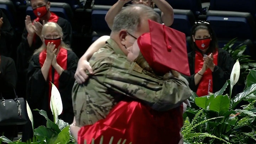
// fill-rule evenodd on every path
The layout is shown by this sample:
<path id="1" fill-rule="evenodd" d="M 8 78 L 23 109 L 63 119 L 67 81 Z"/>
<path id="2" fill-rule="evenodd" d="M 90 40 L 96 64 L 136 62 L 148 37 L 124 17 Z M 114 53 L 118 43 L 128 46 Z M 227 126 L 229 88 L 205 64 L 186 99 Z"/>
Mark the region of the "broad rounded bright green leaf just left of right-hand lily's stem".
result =
<path id="1" fill-rule="evenodd" d="M 229 98 L 228 96 L 216 96 L 210 103 L 209 110 L 218 112 L 219 114 L 225 113 L 229 110 Z"/>

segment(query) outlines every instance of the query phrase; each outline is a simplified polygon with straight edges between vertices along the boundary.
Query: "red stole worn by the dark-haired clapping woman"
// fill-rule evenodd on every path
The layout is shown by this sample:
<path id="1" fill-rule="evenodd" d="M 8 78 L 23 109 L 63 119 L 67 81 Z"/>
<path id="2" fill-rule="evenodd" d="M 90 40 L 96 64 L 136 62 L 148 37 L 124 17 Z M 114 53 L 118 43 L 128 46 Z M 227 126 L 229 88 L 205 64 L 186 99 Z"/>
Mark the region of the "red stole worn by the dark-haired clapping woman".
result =
<path id="1" fill-rule="evenodd" d="M 209 54 L 208 54 L 209 55 Z M 202 69 L 203 67 L 203 55 L 196 51 L 196 56 L 195 56 L 195 74 Z M 217 65 L 218 63 L 218 49 L 216 52 L 213 53 L 213 63 Z M 200 80 L 197 88 L 196 94 L 200 96 L 206 96 L 209 93 L 208 92 L 213 92 L 213 78 L 212 78 L 212 71 L 208 68 L 203 76 L 202 79 Z"/>

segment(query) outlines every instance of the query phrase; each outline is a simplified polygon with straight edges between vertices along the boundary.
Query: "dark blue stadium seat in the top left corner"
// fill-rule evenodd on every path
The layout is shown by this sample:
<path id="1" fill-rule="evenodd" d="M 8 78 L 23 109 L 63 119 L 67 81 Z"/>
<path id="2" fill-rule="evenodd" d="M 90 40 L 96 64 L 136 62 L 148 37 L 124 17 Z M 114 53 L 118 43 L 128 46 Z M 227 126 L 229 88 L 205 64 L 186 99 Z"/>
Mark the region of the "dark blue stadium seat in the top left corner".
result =
<path id="1" fill-rule="evenodd" d="M 8 17 L 12 27 L 15 27 L 16 23 L 16 9 L 11 0 L 0 0 L 0 9 Z"/>

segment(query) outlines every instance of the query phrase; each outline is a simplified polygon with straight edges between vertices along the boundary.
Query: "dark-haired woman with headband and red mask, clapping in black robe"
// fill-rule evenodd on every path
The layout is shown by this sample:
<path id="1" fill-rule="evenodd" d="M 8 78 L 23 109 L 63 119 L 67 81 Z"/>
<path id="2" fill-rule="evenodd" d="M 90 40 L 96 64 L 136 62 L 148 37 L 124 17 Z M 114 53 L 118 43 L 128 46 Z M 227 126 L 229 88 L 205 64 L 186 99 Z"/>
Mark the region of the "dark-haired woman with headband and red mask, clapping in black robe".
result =
<path id="1" fill-rule="evenodd" d="M 188 53 L 190 77 L 186 77 L 198 96 L 219 91 L 230 78 L 234 60 L 218 48 L 217 38 L 209 21 L 196 21 L 192 27 L 192 52 Z"/>

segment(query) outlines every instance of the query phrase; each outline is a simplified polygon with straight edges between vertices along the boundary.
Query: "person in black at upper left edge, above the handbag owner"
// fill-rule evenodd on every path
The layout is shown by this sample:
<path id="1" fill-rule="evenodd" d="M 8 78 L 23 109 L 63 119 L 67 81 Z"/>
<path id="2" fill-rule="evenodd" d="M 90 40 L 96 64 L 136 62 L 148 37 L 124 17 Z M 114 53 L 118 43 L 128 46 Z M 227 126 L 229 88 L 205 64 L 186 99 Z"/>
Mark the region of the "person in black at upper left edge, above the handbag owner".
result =
<path id="1" fill-rule="evenodd" d="M 12 57 L 12 44 L 14 38 L 14 30 L 7 16 L 0 9 L 0 54 L 6 57 Z"/>

